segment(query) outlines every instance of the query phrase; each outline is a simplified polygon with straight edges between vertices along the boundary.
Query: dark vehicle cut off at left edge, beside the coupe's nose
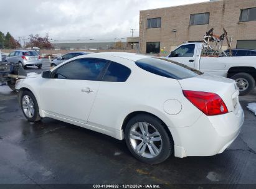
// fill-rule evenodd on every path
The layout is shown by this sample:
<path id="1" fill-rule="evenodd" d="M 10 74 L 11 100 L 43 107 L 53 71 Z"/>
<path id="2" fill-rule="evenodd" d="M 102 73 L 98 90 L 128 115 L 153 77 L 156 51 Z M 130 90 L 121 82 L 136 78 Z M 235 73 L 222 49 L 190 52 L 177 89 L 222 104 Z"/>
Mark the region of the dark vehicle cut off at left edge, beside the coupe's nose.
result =
<path id="1" fill-rule="evenodd" d="M 26 77 L 26 71 L 16 63 L 0 62 L 0 85 L 8 85 L 15 90 L 16 80 Z"/>

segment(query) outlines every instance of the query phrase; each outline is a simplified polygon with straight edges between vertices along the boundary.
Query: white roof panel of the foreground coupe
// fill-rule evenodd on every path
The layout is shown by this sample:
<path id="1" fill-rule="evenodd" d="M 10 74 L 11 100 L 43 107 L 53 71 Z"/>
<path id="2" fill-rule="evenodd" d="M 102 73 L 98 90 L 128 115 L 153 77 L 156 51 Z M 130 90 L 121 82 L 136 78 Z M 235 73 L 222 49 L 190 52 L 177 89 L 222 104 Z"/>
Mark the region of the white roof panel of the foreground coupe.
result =
<path id="1" fill-rule="evenodd" d="M 99 52 L 99 53 L 92 53 L 90 55 L 82 55 L 82 57 L 93 57 L 93 58 L 107 58 L 107 57 L 119 57 L 125 58 L 127 60 L 132 60 L 136 62 L 142 58 L 149 58 L 152 56 L 149 55 L 140 55 L 136 53 L 128 53 L 128 52 Z M 81 57 L 81 56 L 80 56 Z"/>

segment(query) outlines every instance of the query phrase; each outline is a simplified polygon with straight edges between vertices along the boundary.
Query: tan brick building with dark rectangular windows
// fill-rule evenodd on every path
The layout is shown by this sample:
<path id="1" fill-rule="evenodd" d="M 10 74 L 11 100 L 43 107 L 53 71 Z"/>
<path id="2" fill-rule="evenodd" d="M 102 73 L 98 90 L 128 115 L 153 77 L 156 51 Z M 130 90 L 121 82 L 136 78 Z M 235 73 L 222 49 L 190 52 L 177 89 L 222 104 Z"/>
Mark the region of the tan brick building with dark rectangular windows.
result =
<path id="1" fill-rule="evenodd" d="M 140 11 L 140 52 L 163 56 L 183 42 L 201 41 L 214 27 L 232 35 L 232 48 L 256 49 L 256 0 L 207 1 Z M 224 43 L 224 46 L 227 46 Z"/>

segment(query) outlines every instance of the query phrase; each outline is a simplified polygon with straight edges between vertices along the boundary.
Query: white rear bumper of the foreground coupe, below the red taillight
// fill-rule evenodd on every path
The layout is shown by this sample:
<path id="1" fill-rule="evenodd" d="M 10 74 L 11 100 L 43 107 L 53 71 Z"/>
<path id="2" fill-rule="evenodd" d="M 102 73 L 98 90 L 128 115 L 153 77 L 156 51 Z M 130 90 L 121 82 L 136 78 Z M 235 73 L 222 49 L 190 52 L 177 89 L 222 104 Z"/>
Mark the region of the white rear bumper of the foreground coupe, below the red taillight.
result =
<path id="1" fill-rule="evenodd" d="M 178 144 L 174 141 L 174 155 L 182 158 L 220 154 L 235 141 L 243 123 L 244 112 L 239 104 L 236 113 L 202 114 L 190 127 L 169 127 L 179 138 Z"/>

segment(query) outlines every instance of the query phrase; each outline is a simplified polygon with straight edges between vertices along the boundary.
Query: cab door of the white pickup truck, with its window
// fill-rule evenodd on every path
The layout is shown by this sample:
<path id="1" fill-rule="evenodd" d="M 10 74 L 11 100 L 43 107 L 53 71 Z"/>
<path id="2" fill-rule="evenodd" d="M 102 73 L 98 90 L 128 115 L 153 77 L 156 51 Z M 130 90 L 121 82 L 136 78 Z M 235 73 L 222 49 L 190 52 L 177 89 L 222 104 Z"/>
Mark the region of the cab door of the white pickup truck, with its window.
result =
<path id="1" fill-rule="evenodd" d="M 168 56 L 168 59 L 194 68 L 194 62 L 196 60 L 195 44 L 184 44 L 179 46 Z"/>

